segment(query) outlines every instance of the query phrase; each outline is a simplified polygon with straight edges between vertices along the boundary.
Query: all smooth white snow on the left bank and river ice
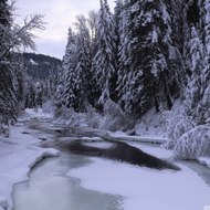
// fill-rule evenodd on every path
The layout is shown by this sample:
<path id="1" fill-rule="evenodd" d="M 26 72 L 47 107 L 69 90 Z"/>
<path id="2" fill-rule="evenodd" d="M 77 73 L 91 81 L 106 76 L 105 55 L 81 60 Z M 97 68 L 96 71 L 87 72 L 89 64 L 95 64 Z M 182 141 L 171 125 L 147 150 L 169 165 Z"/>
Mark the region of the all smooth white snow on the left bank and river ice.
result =
<path id="1" fill-rule="evenodd" d="M 38 147 L 43 138 L 52 141 L 52 135 L 42 130 L 30 129 L 25 125 L 34 116 L 42 124 L 46 122 L 46 115 L 41 111 L 39 113 L 28 111 L 27 116 L 22 123 L 11 127 L 9 138 L 0 137 L 0 206 L 2 209 L 12 208 L 11 192 L 14 183 L 28 181 L 30 169 L 36 161 L 43 157 L 59 155 L 55 149 Z M 49 125 L 52 126 L 53 124 L 50 123 Z M 123 136 L 128 137 L 122 133 L 115 133 L 112 136 L 120 137 L 122 139 Z M 134 137 L 132 136 L 132 138 Z M 155 137 L 153 136 L 151 138 Z M 149 139 L 149 136 L 147 136 L 147 139 Z M 126 141 L 158 158 L 174 161 L 172 151 L 166 150 L 159 145 L 140 143 L 140 138 L 136 141 L 128 139 Z M 108 143 L 102 140 L 85 144 L 99 148 L 111 147 Z M 210 178 L 208 175 L 203 177 L 202 174 L 199 174 L 199 170 L 191 169 L 183 161 L 175 161 L 181 170 L 174 171 L 170 169 L 157 170 L 132 166 L 104 158 L 86 158 L 90 164 L 74 169 L 70 168 L 66 176 L 80 179 L 81 186 L 85 189 L 120 196 L 123 198 L 120 202 L 122 209 L 198 210 L 210 203 Z M 202 159 L 202 161 L 204 160 L 209 161 L 209 158 Z M 207 168 L 206 166 L 203 167 Z"/>

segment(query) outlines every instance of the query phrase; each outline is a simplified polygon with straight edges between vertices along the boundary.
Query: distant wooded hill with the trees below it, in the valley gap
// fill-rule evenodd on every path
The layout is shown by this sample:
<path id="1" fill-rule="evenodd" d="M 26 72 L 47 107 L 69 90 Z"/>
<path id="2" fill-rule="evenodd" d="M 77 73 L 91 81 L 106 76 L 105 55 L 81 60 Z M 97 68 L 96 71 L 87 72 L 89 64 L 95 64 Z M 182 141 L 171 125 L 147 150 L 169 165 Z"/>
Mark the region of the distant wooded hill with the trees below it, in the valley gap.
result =
<path id="1" fill-rule="evenodd" d="M 61 60 L 43 54 L 22 53 L 19 60 L 23 69 L 22 108 L 42 107 L 53 98 L 62 73 Z"/>

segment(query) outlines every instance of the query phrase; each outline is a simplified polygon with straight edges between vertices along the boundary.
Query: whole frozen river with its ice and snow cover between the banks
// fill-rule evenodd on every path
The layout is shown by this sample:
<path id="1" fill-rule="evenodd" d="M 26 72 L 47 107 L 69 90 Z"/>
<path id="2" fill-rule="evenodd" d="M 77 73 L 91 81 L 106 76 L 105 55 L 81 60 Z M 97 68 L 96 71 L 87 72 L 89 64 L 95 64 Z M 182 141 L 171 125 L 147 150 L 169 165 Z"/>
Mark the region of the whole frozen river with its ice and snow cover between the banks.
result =
<path id="1" fill-rule="evenodd" d="M 30 172 L 29 181 L 15 186 L 13 210 L 198 210 L 210 204 L 210 170 L 197 162 L 175 162 L 181 170 L 150 168 L 148 156 L 143 156 L 147 167 L 125 161 L 122 164 L 108 160 L 108 156 L 115 157 L 113 153 L 107 153 L 109 146 L 114 154 L 119 148 L 118 159 L 126 156 L 133 159 L 129 151 L 135 151 L 134 148 L 126 146 L 124 149 L 124 146 L 116 147 L 118 143 L 114 141 L 113 146 L 102 139 L 76 147 L 82 148 L 83 153 L 92 151 L 94 157 L 90 158 L 78 153 L 81 150 L 77 150 L 80 155 L 72 154 L 69 143 L 84 136 L 98 137 L 91 130 L 84 133 L 83 128 L 66 129 L 39 122 L 33 123 L 32 127 L 34 134 L 40 135 L 45 143 L 50 140 L 51 146 L 57 148 L 59 144 L 61 148 L 67 149 L 63 149 L 60 157 L 41 161 Z M 32 129 L 30 132 L 33 133 Z M 171 151 L 159 146 L 139 143 L 130 145 L 158 158 L 171 158 Z M 101 153 L 106 156 L 98 157 Z"/>

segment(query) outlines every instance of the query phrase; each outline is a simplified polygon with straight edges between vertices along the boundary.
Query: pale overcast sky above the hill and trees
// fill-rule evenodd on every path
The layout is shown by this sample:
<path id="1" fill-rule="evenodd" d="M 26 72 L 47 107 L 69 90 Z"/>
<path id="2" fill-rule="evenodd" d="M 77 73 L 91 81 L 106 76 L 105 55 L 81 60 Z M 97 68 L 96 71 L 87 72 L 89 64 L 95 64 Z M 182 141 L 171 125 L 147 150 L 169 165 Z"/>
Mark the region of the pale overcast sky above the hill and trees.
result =
<path id="1" fill-rule="evenodd" d="M 108 0 L 111 8 L 114 0 Z M 77 14 L 87 15 L 91 10 L 99 9 L 99 0 L 18 0 L 17 22 L 27 14 L 44 14 L 45 31 L 38 32 L 38 52 L 62 59 L 67 42 L 67 29 Z"/>

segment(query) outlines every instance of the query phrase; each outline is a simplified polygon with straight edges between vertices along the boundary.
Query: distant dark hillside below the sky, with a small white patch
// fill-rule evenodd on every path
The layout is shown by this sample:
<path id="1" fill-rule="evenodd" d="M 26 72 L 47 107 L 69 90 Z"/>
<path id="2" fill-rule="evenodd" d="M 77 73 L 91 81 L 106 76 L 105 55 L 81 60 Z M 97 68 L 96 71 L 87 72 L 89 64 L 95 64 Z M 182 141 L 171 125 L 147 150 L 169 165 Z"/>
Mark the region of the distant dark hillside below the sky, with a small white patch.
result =
<path id="1" fill-rule="evenodd" d="M 61 70 L 61 60 L 34 53 L 22 54 L 27 74 L 35 81 L 43 81 L 51 75 L 56 75 Z"/>

